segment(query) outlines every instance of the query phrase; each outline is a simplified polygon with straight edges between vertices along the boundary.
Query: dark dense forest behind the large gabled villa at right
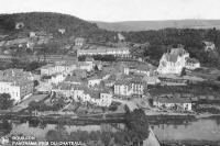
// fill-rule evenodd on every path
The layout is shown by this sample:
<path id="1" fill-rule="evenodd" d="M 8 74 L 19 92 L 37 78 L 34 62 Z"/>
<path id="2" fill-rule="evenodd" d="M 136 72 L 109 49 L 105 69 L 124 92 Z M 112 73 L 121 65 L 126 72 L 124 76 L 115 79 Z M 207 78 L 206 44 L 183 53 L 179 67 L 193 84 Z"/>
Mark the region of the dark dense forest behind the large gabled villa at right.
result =
<path id="1" fill-rule="evenodd" d="M 191 57 L 199 59 L 202 64 L 220 67 L 220 31 L 216 29 L 164 29 L 158 31 L 123 32 L 128 42 L 150 43 L 148 47 L 140 49 L 140 56 L 150 56 L 160 60 L 163 53 L 178 44 L 185 46 Z M 213 42 L 217 50 L 205 52 L 202 41 Z"/>

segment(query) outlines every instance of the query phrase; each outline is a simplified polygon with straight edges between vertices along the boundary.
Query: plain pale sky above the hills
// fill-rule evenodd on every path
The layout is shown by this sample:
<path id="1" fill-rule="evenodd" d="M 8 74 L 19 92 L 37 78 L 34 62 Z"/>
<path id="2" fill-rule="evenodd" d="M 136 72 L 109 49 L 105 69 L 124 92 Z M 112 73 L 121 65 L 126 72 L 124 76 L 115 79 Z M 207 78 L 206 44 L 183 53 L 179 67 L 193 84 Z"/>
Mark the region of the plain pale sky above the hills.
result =
<path id="1" fill-rule="evenodd" d="M 0 0 L 0 13 L 33 11 L 106 22 L 220 20 L 220 0 Z"/>

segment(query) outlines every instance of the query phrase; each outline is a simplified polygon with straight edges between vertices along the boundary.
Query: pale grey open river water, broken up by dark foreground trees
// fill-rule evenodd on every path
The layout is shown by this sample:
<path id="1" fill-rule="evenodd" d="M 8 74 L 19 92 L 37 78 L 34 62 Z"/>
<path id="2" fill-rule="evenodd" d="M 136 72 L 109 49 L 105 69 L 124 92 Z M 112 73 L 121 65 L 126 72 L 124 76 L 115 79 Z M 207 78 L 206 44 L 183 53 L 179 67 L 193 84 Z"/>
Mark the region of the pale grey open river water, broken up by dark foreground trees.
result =
<path id="1" fill-rule="evenodd" d="M 65 125 L 65 131 L 70 134 L 77 131 L 103 131 L 111 128 L 117 132 L 119 128 L 123 128 L 123 124 L 101 124 L 101 125 Z M 200 119 L 190 122 L 183 122 L 178 124 L 166 123 L 151 125 L 153 132 L 157 136 L 160 142 L 186 142 L 186 141 L 202 141 L 212 142 L 219 145 L 220 141 L 220 119 Z M 37 141 L 45 141 L 45 135 L 51 130 L 56 130 L 56 124 L 46 125 L 33 125 L 29 122 L 15 123 L 12 122 L 12 130 L 10 134 L 23 134 L 32 135 Z M 1 131 L 1 128 L 0 128 Z"/>

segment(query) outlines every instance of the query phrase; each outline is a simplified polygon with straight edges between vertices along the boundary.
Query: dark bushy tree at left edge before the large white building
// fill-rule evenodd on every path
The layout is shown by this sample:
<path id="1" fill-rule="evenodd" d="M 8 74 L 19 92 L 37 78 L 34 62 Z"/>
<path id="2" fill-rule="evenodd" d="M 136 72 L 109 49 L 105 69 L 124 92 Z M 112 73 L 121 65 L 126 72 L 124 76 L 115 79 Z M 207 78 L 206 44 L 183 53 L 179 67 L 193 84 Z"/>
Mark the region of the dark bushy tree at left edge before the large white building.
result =
<path id="1" fill-rule="evenodd" d="M 0 94 L 0 110 L 8 110 L 13 106 L 14 100 L 11 99 L 9 93 Z"/>

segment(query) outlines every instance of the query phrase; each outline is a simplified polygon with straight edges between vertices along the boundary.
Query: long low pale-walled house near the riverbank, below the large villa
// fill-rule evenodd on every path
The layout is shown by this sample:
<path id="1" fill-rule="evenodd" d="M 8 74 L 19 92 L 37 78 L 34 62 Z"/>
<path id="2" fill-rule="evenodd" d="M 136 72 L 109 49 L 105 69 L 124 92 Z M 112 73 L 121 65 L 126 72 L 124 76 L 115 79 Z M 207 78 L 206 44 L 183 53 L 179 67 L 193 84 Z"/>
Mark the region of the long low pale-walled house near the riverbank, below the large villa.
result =
<path id="1" fill-rule="evenodd" d="M 191 111 L 189 98 L 158 97 L 153 101 L 153 105 L 162 109 Z"/>

